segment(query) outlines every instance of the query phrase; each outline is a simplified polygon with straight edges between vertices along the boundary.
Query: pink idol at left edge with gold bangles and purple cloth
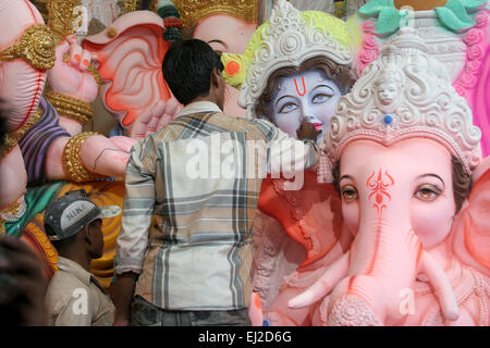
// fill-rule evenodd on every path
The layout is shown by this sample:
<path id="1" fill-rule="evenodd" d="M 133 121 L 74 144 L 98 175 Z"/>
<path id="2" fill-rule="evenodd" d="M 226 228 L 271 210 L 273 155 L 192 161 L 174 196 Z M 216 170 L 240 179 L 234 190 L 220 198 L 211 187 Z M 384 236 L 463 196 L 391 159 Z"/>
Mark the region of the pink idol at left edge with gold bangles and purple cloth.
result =
<path id="1" fill-rule="evenodd" d="M 28 1 L 1 0 L 0 29 L 7 33 L 0 39 L 0 96 L 10 133 L 0 163 L 0 208 L 24 206 L 26 184 L 124 176 L 134 140 L 82 132 L 94 116 L 97 57 L 74 36 L 45 26 Z"/>

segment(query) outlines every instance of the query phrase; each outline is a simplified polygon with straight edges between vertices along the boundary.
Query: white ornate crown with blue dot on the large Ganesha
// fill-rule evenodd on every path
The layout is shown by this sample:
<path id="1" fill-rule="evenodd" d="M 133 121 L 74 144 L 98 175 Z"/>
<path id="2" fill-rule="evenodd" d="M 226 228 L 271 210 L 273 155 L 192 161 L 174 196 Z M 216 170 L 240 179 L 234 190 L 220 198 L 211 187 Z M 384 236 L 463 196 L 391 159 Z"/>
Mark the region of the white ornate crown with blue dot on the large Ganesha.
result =
<path id="1" fill-rule="evenodd" d="M 473 124 L 466 100 L 456 94 L 445 67 L 427 54 L 409 27 L 384 47 L 350 94 L 341 98 L 322 144 L 329 165 L 357 139 L 390 146 L 431 138 L 460 159 L 470 174 L 481 161 L 481 130 Z"/>

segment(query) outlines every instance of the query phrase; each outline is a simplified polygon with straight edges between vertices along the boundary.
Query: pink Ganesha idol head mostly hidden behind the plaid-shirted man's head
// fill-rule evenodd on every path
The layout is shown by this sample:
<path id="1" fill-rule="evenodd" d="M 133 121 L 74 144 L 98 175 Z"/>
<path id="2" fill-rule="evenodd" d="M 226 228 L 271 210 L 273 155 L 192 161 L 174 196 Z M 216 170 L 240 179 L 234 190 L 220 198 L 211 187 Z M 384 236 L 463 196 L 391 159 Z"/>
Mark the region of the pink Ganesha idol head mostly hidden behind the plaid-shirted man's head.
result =
<path id="1" fill-rule="evenodd" d="M 198 38 L 216 51 L 242 53 L 257 24 L 257 1 L 152 1 L 158 12 L 133 11 L 103 32 L 88 36 L 83 47 L 98 55 L 100 97 L 122 132 L 139 139 L 167 125 L 182 108 L 171 96 L 161 72 L 170 41 Z M 237 91 L 226 86 L 224 112 L 244 116 Z"/>

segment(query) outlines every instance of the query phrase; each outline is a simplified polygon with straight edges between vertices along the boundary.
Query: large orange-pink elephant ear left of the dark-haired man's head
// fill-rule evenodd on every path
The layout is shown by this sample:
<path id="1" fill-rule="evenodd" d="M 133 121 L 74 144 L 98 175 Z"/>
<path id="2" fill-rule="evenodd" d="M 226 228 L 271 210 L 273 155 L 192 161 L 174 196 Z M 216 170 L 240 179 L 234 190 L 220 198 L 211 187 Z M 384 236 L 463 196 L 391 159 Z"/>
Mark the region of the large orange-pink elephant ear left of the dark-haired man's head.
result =
<path id="1" fill-rule="evenodd" d="M 102 103 L 124 128 L 143 111 L 171 97 L 161 67 L 170 47 L 163 32 L 160 16 L 136 11 L 83 41 L 84 49 L 99 55 Z"/>

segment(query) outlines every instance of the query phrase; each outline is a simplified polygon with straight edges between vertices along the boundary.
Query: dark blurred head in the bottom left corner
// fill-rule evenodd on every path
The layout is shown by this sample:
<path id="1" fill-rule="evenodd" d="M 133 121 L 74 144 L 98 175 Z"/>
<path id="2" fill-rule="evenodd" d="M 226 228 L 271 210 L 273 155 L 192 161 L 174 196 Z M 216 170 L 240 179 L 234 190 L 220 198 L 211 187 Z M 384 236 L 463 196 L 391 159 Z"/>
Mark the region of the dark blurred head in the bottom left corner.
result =
<path id="1" fill-rule="evenodd" d="M 38 257 L 11 236 L 0 237 L 0 325 L 47 325 L 48 279 Z"/>

